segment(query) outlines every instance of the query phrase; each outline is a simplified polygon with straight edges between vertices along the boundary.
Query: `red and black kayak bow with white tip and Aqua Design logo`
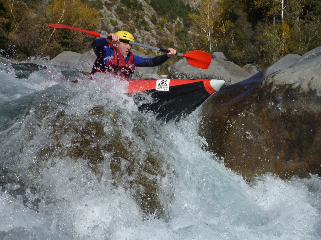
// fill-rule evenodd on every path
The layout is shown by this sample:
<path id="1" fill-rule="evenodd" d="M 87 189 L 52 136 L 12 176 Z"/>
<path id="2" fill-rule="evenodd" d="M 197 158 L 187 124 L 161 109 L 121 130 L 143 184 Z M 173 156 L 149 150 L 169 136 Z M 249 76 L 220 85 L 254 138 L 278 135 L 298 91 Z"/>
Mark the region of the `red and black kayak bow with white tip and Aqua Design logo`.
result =
<path id="1" fill-rule="evenodd" d="M 127 81 L 127 94 L 133 96 L 139 111 L 153 112 L 157 119 L 166 122 L 186 117 L 225 84 L 219 79 Z"/>

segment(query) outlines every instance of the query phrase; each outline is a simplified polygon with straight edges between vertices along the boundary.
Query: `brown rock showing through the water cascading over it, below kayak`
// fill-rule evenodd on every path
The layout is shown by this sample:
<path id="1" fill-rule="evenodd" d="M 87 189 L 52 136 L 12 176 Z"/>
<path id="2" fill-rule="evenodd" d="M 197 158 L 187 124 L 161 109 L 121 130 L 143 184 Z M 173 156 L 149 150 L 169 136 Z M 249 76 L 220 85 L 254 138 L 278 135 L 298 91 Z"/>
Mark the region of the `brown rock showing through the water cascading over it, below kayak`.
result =
<path id="1" fill-rule="evenodd" d="M 43 144 L 37 158 L 47 161 L 53 157 L 70 157 L 74 161 L 79 158 L 88 161 L 90 168 L 100 180 L 101 164 L 109 161 L 111 182 L 114 187 L 125 188 L 135 199 L 146 215 L 157 212 L 158 217 L 164 215 L 163 202 L 160 200 L 160 182 L 166 177 L 164 158 L 151 151 L 141 153 L 139 144 L 134 139 L 124 137 L 119 128 L 122 119 L 117 113 L 110 113 L 104 106 L 95 106 L 76 121 L 77 116 L 68 115 L 65 111 L 56 113 L 46 128 L 52 128 L 48 136 L 53 144 Z M 108 121 L 108 134 L 104 129 Z M 148 135 L 144 124 L 134 125 L 133 131 L 142 141 Z M 60 144 L 60 139 L 73 136 L 67 146 Z M 106 159 L 107 156 L 110 156 Z"/>

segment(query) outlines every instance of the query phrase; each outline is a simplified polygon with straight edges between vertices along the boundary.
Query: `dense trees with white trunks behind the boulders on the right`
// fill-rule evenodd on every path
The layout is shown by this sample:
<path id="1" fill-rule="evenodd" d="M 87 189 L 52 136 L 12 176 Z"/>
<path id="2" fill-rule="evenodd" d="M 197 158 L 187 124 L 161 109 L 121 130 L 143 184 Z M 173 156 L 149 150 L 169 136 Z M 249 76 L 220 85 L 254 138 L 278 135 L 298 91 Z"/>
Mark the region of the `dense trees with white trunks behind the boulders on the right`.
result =
<path id="1" fill-rule="evenodd" d="M 319 0 L 203 0 L 192 22 L 193 45 L 229 60 L 265 67 L 288 53 L 321 45 Z"/>

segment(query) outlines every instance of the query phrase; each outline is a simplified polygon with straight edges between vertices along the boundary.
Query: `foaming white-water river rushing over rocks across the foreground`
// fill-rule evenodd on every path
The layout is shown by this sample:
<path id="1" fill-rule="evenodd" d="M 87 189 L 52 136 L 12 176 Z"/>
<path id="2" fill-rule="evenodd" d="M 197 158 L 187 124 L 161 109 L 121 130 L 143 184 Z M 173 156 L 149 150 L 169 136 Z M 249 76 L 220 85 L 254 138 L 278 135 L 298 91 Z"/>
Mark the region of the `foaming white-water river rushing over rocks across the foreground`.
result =
<path id="1" fill-rule="evenodd" d="M 0 59 L 0 240 L 321 239 L 318 176 L 247 183 L 206 151 L 199 108 L 164 123 L 126 81 L 76 78 Z"/>

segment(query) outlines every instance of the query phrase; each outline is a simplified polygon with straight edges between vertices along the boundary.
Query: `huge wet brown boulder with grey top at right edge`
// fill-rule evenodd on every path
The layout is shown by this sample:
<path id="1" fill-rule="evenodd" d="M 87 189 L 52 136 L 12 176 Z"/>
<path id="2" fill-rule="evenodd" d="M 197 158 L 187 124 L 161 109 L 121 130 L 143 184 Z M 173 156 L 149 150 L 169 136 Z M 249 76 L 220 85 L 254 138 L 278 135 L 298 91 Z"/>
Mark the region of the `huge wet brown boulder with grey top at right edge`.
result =
<path id="1" fill-rule="evenodd" d="M 318 49 L 289 54 L 204 104 L 200 133 L 227 167 L 247 179 L 321 173 Z"/>

